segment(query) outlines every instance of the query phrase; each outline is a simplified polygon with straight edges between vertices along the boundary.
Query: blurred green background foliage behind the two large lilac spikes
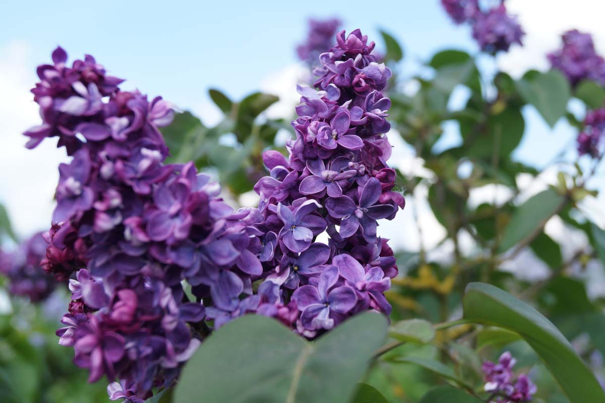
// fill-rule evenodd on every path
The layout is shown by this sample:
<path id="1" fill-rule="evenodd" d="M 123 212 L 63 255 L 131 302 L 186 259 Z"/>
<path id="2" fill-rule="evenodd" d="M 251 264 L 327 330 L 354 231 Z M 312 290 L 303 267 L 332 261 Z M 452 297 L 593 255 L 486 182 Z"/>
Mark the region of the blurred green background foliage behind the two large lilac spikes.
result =
<path id="1" fill-rule="evenodd" d="M 398 171 L 397 183 L 408 200 L 407 208 L 417 209 L 426 198 L 445 229 L 442 240 L 427 247 L 420 222 L 406 223 L 415 226 L 420 247 L 396 251 L 400 275 L 387 294 L 394 307 L 392 323 L 410 318 L 442 323 L 459 317 L 468 283 L 494 284 L 551 319 L 604 379 L 605 299 L 589 295 L 584 273 L 594 265 L 603 270 L 605 231 L 578 206 L 596 195 L 587 183 L 600 160 L 569 159 L 570 146 L 561 144 L 560 158 L 543 170 L 554 169 L 557 183 L 543 185 L 543 171 L 515 160 L 513 152 L 528 136 L 525 108 L 534 108 L 551 127 L 563 119 L 580 131 L 584 112 L 603 106 L 605 89 L 588 80 L 572 88 L 557 70 L 532 70 L 513 79 L 495 68 L 478 67 L 494 67 L 492 56 L 460 50 L 440 51 L 413 75 L 399 68 L 404 51 L 397 39 L 382 31 L 382 40 L 384 60 L 395 73 L 387 91 L 393 102 L 389 136 L 401 136 L 423 167 L 415 174 Z M 454 95 L 460 93 L 463 102 Z M 193 160 L 218 177 L 224 197 L 234 206 L 255 205 L 253 185 L 266 174 L 261 154 L 267 149 L 286 154 L 290 119 L 266 116 L 267 108 L 278 101 L 272 94 L 252 93 L 232 100 L 212 89 L 209 95 L 223 119 L 207 126 L 189 111 L 178 114 L 163 129 L 170 162 Z M 579 112 L 569 108 L 572 103 L 580 105 Z M 461 142 L 444 149 L 446 124 L 459 128 Z M 396 160 L 390 162 L 397 165 Z M 536 188 L 532 183 L 540 191 L 528 191 Z M 479 204 L 469 201 L 476 189 L 489 189 L 489 197 Z M 555 240 L 545 230 L 553 221 L 563 226 L 564 240 L 585 242 Z M 0 208 L 0 234 L 8 248 L 18 241 L 4 208 Z M 531 258 L 520 258 L 528 254 Z M 548 267 L 538 280 L 532 274 L 537 260 Z M 4 401 L 108 401 L 106 382 L 85 382 L 85 371 L 71 363 L 71 350 L 57 345 L 54 331 L 67 300 L 64 288 L 38 305 L 0 293 Z M 430 342 L 397 347 L 373 364 L 365 382 L 393 403 L 417 402 L 444 379 L 480 388 L 482 362 L 493 361 L 505 350 L 517 357 L 517 368 L 529 370 L 538 385 L 535 401 L 567 402 L 527 342 L 515 333 L 487 326 L 452 327 L 438 331 Z"/>

